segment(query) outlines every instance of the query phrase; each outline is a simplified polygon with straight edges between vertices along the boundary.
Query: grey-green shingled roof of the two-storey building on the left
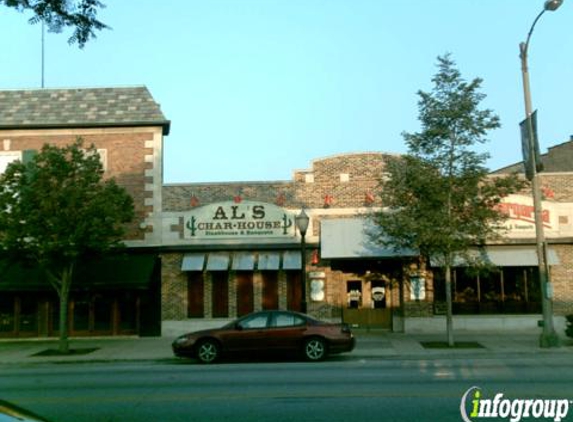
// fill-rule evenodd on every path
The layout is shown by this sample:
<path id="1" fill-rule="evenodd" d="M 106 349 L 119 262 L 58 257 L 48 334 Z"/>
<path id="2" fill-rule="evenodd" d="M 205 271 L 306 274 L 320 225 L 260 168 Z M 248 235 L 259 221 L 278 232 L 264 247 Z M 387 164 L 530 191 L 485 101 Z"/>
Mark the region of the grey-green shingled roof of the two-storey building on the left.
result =
<path id="1" fill-rule="evenodd" d="M 170 122 L 144 86 L 0 91 L 0 129 L 114 126 Z"/>

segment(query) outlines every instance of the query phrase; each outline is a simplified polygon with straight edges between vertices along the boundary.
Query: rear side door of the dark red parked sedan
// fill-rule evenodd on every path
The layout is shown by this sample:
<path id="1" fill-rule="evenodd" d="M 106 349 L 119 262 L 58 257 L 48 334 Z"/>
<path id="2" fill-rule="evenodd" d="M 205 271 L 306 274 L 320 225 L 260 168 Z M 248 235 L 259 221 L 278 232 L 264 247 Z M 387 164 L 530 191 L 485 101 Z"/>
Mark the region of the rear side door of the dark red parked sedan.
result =
<path id="1" fill-rule="evenodd" d="M 297 352 L 302 347 L 307 321 L 292 312 L 273 312 L 267 334 L 268 348 L 277 352 Z"/>

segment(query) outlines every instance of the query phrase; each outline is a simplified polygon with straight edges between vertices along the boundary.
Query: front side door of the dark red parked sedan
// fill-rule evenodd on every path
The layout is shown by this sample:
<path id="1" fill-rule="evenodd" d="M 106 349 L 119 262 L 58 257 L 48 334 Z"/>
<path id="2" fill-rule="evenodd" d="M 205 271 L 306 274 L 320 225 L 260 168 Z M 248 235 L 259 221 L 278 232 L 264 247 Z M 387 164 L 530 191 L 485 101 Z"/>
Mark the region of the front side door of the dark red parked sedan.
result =
<path id="1" fill-rule="evenodd" d="M 267 348 L 269 312 L 257 312 L 237 320 L 233 329 L 222 338 L 229 352 L 248 352 Z"/>

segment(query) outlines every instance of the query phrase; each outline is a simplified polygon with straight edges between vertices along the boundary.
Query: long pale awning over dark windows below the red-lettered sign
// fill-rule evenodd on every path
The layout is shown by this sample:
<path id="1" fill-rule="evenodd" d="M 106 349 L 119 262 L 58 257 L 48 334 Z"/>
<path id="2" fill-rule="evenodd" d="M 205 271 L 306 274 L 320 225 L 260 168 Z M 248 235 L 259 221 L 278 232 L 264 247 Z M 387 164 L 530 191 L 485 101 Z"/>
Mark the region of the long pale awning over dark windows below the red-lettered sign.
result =
<path id="1" fill-rule="evenodd" d="M 487 246 L 485 248 L 471 249 L 469 259 L 478 259 L 496 267 L 534 267 L 537 266 L 537 250 L 534 246 Z M 430 259 L 433 267 L 442 266 L 438 259 Z M 547 263 L 559 265 L 557 252 L 547 248 Z M 454 260 L 455 267 L 468 266 L 468 260 L 459 256 Z"/>

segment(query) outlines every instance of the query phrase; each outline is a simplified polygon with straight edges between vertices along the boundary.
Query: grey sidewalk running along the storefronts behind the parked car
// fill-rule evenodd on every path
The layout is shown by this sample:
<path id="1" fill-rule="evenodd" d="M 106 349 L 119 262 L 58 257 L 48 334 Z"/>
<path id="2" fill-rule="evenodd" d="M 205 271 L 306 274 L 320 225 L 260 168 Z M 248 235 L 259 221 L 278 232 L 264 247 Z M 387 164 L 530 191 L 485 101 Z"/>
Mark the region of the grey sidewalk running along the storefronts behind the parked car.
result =
<path id="1" fill-rule="evenodd" d="M 355 330 L 354 359 L 436 359 L 495 358 L 502 356 L 573 357 L 573 341 L 562 338 L 559 348 L 541 349 L 538 334 L 456 333 L 457 343 L 471 342 L 469 348 L 426 348 L 424 342 L 444 342 L 445 333 L 400 334 L 385 331 Z M 46 349 L 56 349 L 55 339 L 0 340 L 0 365 L 34 363 L 72 363 L 109 361 L 153 361 L 175 359 L 170 337 L 103 337 L 70 340 L 72 349 L 97 350 L 73 356 L 33 356 Z M 478 345 L 475 345 L 478 343 Z M 476 347 L 481 346 L 481 347 Z"/>

